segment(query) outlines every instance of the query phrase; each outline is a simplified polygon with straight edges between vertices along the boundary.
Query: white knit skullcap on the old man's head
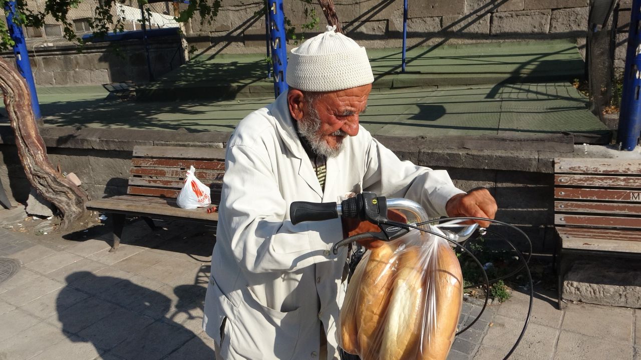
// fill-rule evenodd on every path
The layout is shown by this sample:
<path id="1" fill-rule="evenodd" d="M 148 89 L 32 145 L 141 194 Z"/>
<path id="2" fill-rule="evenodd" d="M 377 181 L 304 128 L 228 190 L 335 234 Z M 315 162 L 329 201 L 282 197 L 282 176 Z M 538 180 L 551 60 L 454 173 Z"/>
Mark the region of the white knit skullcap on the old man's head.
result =
<path id="1" fill-rule="evenodd" d="M 287 85 L 303 91 L 345 90 L 374 82 L 372 67 L 362 47 L 335 32 L 336 26 L 292 49 L 287 63 Z"/>

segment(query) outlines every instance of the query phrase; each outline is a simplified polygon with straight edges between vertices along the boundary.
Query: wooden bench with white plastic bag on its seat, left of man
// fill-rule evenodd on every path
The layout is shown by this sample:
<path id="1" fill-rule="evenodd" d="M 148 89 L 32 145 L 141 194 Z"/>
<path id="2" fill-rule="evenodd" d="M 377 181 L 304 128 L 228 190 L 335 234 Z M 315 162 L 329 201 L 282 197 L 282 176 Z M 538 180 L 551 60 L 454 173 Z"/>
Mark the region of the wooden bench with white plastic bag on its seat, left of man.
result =
<path id="1" fill-rule="evenodd" d="M 217 222 L 218 213 L 209 208 L 182 209 L 176 197 L 185 181 L 190 165 L 196 177 L 212 190 L 212 206 L 221 199 L 222 177 L 225 172 L 225 149 L 203 147 L 137 146 L 133 149 L 127 195 L 91 200 L 87 209 L 108 213 L 113 219 L 113 245 L 116 250 L 122 236 L 126 215 L 141 216 L 156 229 L 154 218 Z"/>

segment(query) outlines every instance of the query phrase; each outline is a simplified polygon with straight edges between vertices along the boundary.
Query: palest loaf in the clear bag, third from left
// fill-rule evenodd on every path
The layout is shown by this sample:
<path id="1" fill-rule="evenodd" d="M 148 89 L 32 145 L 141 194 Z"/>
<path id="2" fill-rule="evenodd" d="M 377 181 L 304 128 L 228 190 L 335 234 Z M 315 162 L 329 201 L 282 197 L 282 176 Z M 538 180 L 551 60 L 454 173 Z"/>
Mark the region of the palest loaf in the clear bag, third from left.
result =
<path id="1" fill-rule="evenodd" d="M 423 323 L 423 264 L 420 246 L 411 246 L 399 256 L 392 297 L 387 307 L 380 358 L 415 359 Z"/>

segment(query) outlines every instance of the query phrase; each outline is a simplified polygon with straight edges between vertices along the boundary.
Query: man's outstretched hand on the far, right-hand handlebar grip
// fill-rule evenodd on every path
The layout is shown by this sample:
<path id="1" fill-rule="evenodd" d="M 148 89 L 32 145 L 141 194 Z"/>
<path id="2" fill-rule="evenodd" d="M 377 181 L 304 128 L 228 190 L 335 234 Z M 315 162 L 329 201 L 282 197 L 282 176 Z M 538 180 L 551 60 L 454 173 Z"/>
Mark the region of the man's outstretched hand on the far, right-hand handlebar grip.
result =
<path id="1" fill-rule="evenodd" d="M 469 193 L 454 195 L 447 201 L 445 211 L 448 217 L 491 218 L 496 215 L 496 200 L 486 188 L 476 188 Z M 481 227 L 488 227 L 490 222 L 470 220 L 464 224 L 477 222 Z"/>

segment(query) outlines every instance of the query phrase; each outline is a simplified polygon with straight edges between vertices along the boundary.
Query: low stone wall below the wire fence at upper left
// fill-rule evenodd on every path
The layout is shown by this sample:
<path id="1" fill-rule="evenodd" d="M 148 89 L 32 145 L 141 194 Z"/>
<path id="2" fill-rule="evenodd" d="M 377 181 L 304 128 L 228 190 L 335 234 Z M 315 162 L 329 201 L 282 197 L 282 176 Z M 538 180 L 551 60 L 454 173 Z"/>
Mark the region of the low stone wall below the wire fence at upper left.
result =
<path id="1" fill-rule="evenodd" d="M 178 36 L 149 39 L 154 76 L 158 77 L 182 63 Z M 149 70 L 142 40 L 87 44 L 78 51 L 67 42 L 28 42 L 29 60 L 36 85 L 103 85 L 106 83 L 149 81 Z M 0 56 L 13 60 L 13 53 Z"/>

